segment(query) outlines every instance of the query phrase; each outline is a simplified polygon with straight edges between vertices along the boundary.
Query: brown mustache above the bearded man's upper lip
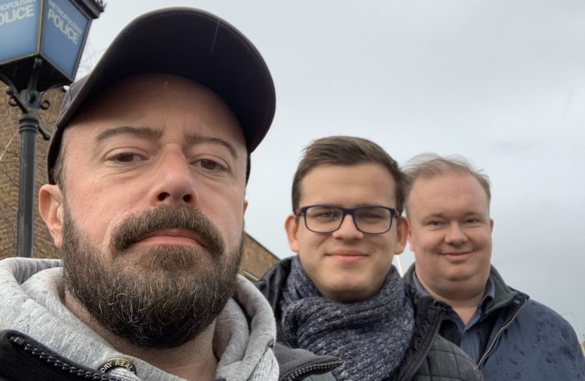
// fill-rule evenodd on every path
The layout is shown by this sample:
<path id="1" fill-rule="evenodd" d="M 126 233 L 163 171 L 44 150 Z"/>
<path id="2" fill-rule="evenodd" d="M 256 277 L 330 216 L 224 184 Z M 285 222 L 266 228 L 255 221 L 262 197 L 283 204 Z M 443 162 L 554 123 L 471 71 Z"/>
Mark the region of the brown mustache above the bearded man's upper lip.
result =
<path id="1" fill-rule="evenodd" d="M 156 205 L 152 210 L 131 214 L 112 231 L 111 249 L 123 253 L 142 236 L 161 229 L 185 229 L 197 234 L 209 253 L 221 255 L 226 249 L 221 233 L 199 209 L 187 205 Z"/>

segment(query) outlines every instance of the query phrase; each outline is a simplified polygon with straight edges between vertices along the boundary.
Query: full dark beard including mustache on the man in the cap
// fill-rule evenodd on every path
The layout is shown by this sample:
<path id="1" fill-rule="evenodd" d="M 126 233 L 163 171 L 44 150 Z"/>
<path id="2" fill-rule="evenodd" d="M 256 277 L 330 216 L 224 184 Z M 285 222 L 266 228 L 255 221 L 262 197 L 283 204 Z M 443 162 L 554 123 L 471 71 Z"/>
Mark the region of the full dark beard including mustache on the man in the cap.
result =
<path id="1" fill-rule="evenodd" d="M 156 229 L 187 229 L 207 243 L 134 248 L 130 242 Z M 109 332 L 129 344 L 170 349 L 195 339 L 233 295 L 243 252 L 226 252 L 207 217 L 182 205 L 162 206 L 126 218 L 101 253 L 75 226 L 63 200 L 66 289 Z"/>

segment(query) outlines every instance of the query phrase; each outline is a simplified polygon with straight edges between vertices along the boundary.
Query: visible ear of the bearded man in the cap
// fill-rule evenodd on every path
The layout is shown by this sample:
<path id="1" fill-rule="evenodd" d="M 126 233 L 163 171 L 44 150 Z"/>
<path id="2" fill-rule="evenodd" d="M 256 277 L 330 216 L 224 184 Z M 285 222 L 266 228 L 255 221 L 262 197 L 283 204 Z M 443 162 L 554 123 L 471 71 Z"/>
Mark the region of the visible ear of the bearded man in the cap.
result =
<path id="1" fill-rule="evenodd" d="M 56 185 L 45 184 L 39 191 L 39 213 L 57 248 L 63 246 L 63 195 Z"/>

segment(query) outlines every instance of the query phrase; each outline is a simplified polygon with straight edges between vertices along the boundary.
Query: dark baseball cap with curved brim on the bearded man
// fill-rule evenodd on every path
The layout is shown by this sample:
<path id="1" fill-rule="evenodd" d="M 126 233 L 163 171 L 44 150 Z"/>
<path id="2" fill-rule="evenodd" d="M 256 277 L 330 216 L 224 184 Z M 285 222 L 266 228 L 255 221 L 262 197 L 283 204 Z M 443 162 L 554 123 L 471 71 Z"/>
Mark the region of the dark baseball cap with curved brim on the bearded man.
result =
<path id="1" fill-rule="evenodd" d="M 240 121 L 248 152 L 268 132 L 276 93 L 269 69 L 252 42 L 226 20 L 196 8 L 163 8 L 135 18 L 110 44 L 92 72 L 71 84 L 57 117 L 47 167 L 49 183 L 63 130 L 106 87 L 140 73 L 196 80 L 226 102 Z"/>

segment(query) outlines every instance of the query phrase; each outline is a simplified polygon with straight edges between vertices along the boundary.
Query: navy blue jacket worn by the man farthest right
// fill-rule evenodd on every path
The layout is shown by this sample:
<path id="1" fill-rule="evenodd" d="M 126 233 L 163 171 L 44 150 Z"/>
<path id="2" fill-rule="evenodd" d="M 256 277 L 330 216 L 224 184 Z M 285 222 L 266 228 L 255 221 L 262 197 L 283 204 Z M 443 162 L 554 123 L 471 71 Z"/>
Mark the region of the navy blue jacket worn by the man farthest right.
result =
<path id="1" fill-rule="evenodd" d="M 413 284 L 414 265 L 405 274 Z M 567 320 L 508 287 L 491 267 L 495 298 L 479 320 L 478 366 L 486 381 L 585 381 L 585 357 Z M 445 319 L 441 334 L 460 345 L 455 323 Z"/>

